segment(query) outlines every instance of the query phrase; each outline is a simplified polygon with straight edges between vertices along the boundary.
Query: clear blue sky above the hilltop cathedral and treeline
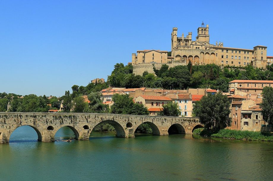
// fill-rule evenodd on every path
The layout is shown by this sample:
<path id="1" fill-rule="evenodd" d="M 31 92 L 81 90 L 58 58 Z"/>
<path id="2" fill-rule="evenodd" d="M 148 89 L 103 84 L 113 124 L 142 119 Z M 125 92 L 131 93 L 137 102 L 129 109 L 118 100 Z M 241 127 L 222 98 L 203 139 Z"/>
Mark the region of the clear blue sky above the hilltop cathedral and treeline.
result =
<path id="1" fill-rule="evenodd" d="M 0 92 L 62 96 L 107 79 L 131 53 L 171 49 L 171 32 L 209 24 L 210 43 L 273 56 L 272 1 L 1 1 Z M 265 5 L 265 6 L 264 6 Z"/>

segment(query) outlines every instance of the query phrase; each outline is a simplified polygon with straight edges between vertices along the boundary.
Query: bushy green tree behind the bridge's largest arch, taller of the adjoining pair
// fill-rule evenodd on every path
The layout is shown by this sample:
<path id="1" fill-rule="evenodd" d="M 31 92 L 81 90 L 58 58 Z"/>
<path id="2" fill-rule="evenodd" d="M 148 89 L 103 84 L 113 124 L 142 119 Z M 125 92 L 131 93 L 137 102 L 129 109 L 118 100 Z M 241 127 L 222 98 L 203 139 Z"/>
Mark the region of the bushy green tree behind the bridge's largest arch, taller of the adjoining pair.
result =
<path id="1" fill-rule="evenodd" d="M 111 106 L 111 113 L 113 114 L 131 114 L 133 107 L 133 98 L 128 94 L 114 94 L 112 100 L 114 104 Z"/>

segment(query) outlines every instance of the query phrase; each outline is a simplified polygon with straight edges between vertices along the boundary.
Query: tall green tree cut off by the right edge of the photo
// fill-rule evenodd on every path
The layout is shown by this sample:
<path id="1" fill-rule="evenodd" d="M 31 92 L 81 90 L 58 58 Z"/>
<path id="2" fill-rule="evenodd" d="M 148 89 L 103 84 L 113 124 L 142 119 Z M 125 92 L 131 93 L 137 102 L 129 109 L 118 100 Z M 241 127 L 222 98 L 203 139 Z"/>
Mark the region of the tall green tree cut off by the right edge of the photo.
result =
<path id="1" fill-rule="evenodd" d="M 268 124 L 273 124 L 273 88 L 264 87 L 263 101 L 260 104 L 264 120 Z"/>

